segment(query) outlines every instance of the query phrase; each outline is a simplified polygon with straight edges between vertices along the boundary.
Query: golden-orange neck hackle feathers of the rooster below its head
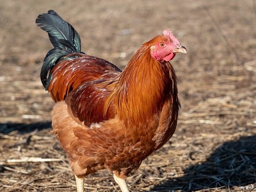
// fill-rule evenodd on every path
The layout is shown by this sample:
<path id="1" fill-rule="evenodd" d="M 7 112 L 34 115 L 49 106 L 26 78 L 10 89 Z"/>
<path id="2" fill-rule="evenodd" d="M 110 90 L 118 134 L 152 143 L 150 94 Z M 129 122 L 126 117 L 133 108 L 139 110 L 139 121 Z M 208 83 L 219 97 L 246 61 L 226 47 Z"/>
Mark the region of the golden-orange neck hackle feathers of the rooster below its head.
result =
<path id="1" fill-rule="evenodd" d="M 142 46 L 118 80 L 117 115 L 126 124 L 139 126 L 160 116 L 169 100 L 179 106 L 174 69 L 169 62 L 161 64 L 152 58 L 150 48 Z"/>

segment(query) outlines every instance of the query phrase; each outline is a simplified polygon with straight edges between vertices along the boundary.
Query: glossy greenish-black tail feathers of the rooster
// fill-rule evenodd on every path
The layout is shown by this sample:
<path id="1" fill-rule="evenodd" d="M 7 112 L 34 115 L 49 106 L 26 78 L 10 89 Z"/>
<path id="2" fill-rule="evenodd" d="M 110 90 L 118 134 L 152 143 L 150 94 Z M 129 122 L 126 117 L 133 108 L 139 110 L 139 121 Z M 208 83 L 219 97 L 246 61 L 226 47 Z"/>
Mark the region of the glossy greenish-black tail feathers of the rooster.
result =
<path id="1" fill-rule="evenodd" d="M 51 81 L 49 71 L 62 57 L 70 53 L 80 53 L 81 41 L 74 27 L 64 21 L 53 10 L 39 15 L 36 19 L 36 24 L 48 32 L 49 39 L 54 47 L 45 56 L 41 69 L 41 81 L 45 89 L 48 90 L 48 85 Z"/>

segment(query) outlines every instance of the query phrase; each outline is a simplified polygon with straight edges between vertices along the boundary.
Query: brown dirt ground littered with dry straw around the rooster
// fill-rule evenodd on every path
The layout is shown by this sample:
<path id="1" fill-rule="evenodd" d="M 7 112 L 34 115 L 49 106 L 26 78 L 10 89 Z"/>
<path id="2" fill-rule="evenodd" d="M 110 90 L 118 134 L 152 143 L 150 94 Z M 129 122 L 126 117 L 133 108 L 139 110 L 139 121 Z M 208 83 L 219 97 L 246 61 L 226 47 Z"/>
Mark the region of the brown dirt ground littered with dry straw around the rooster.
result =
<path id="1" fill-rule="evenodd" d="M 133 192 L 256 191 L 256 0 L 9 0 L 0 3 L 1 192 L 76 190 L 40 81 L 52 46 L 35 19 L 49 9 L 79 32 L 82 51 L 121 69 L 166 28 L 187 48 L 172 61 L 176 132 L 130 174 Z M 85 190 L 120 191 L 107 171 Z"/>

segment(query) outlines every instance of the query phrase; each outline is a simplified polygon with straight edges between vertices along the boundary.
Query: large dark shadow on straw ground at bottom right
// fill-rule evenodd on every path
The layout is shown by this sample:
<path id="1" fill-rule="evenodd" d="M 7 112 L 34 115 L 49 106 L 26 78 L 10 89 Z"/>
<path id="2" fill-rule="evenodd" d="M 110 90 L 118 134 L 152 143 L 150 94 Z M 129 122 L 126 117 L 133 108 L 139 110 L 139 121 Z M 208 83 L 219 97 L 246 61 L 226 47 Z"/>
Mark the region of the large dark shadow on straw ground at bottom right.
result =
<path id="1" fill-rule="evenodd" d="M 205 162 L 191 165 L 183 171 L 184 176 L 168 178 L 150 191 L 190 192 L 210 188 L 238 190 L 237 187 L 242 190 L 256 181 L 256 136 L 226 142 Z M 256 186 L 251 186 L 248 190 L 255 189 Z"/>

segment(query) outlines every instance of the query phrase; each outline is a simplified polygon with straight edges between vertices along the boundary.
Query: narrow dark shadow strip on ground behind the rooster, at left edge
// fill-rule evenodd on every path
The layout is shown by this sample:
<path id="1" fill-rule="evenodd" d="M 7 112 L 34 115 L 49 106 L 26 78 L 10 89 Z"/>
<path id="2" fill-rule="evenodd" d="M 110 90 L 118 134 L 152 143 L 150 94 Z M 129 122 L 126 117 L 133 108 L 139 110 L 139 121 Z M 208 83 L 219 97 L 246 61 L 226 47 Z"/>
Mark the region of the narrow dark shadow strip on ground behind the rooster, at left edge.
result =
<path id="1" fill-rule="evenodd" d="M 34 130 L 43 130 L 46 128 L 51 128 L 52 122 L 37 122 L 37 123 L 0 123 L 0 133 L 7 134 L 13 131 L 18 131 L 18 133 L 29 133 Z"/>

